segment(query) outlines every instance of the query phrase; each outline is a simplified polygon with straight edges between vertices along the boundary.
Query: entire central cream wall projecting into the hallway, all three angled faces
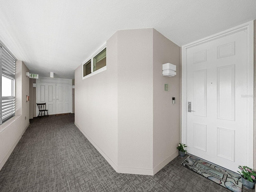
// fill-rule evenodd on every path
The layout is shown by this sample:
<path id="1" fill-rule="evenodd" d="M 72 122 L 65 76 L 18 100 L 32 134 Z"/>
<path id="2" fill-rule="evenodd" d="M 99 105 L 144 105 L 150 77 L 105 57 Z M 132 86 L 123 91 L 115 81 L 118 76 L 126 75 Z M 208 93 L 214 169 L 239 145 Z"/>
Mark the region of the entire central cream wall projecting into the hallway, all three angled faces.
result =
<path id="1" fill-rule="evenodd" d="M 120 30 L 107 41 L 105 71 L 82 80 L 75 70 L 75 124 L 117 172 L 153 175 L 178 155 L 180 77 L 163 77 L 162 64 L 179 68 L 179 59 L 152 28 Z"/>

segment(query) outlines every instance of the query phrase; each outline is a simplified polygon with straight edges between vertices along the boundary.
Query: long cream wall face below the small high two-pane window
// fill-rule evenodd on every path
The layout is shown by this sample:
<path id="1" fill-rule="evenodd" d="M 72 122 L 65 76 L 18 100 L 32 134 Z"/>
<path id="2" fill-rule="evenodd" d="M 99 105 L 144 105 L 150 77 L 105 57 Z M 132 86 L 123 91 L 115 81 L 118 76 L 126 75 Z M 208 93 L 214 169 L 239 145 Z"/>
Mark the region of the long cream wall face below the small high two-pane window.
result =
<path id="1" fill-rule="evenodd" d="M 117 52 L 117 36 L 107 42 L 107 54 Z M 96 50 L 95 50 L 96 51 Z M 75 70 L 75 124 L 92 144 L 117 167 L 117 62 L 108 54 L 107 69 L 82 80 Z"/>

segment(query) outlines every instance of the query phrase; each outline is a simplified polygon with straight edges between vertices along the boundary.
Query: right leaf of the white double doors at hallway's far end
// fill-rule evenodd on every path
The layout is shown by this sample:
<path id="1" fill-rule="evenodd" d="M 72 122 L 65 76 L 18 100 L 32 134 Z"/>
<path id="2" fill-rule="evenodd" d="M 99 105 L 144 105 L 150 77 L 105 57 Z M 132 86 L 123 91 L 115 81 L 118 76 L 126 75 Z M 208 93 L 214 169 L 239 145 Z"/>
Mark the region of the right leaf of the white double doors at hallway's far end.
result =
<path id="1" fill-rule="evenodd" d="M 70 85 L 56 84 L 56 114 L 69 113 L 71 111 L 71 90 Z"/>

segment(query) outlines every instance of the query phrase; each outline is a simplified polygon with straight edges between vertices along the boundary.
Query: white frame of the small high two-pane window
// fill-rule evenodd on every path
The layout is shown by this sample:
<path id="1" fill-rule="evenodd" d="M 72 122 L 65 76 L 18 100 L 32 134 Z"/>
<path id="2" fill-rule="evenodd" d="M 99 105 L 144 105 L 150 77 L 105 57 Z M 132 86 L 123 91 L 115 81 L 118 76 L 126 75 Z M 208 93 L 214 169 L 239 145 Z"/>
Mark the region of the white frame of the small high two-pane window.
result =
<path id="1" fill-rule="evenodd" d="M 91 76 L 94 76 L 102 71 L 105 71 L 107 69 L 107 64 L 106 66 L 96 70 L 96 71 L 93 71 L 93 66 L 94 66 L 94 63 L 93 63 L 93 59 L 95 56 L 97 56 L 102 50 L 104 50 L 105 48 L 107 47 L 106 43 L 104 43 L 96 52 L 94 52 L 94 54 L 92 54 L 88 59 L 85 60 L 85 62 L 82 63 L 82 80 L 86 79 L 86 78 L 89 78 Z M 89 61 L 91 61 L 91 73 L 84 76 L 84 65 L 87 64 Z"/>

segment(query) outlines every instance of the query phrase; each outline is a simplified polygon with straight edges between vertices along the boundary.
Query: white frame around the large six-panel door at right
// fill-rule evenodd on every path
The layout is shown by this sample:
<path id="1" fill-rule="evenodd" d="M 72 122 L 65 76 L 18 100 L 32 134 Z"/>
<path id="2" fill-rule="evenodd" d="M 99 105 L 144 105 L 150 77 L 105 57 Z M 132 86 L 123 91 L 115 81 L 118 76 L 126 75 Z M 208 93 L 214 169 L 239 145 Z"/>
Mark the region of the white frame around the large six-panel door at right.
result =
<path id="1" fill-rule="evenodd" d="M 248 127 L 248 134 L 247 134 L 247 144 L 249 146 L 247 150 L 247 165 L 253 168 L 253 138 L 254 138 L 254 21 L 250 21 L 244 23 L 242 25 L 236 26 L 234 28 L 225 30 L 223 32 L 214 34 L 212 36 L 208 36 L 201 40 L 194 41 L 192 43 L 186 44 L 182 46 L 182 93 L 181 93 L 181 141 L 182 143 L 187 143 L 187 50 L 194 46 L 198 46 L 200 44 L 204 44 L 206 42 L 210 42 L 224 36 L 228 36 L 240 31 L 247 30 L 248 38 L 247 38 L 247 127 Z M 188 152 L 189 153 L 189 152 Z"/>

